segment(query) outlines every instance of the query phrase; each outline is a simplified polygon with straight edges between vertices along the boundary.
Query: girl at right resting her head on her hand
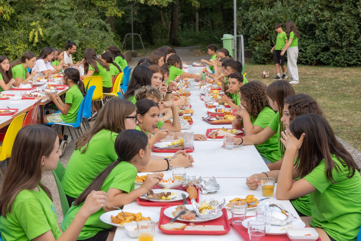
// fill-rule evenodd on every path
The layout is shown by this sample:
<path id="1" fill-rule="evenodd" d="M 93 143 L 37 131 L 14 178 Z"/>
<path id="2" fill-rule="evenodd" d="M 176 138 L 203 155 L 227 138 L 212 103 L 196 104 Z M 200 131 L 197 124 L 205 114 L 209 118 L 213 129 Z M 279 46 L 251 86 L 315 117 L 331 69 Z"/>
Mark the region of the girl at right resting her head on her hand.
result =
<path id="1" fill-rule="evenodd" d="M 281 141 L 286 151 L 276 198 L 309 194 L 311 217 L 301 218 L 306 226 L 314 227 L 322 240 L 356 240 L 361 226 L 360 169 L 327 120 L 318 114 L 296 117 Z M 301 179 L 293 181 L 293 176 Z"/>

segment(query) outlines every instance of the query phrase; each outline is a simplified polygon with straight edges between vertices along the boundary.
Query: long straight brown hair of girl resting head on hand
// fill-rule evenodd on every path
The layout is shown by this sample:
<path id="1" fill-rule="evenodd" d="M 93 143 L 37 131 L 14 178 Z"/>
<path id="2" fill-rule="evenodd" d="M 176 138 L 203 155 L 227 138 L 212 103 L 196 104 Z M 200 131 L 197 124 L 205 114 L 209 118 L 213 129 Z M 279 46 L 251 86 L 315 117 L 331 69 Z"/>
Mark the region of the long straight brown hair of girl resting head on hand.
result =
<path id="1" fill-rule="evenodd" d="M 342 166 L 348 169 L 347 177 L 352 177 L 356 170 L 360 171 L 351 154 L 336 140 L 330 124 L 321 115 L 306 114 L 296 117 L 290 124 L 290 130 L 297 139 L 302 133 L 306 134 L 295 162 L 300 177 L 312 172 L 322 159 L 325 159 L 327 180 L 336 182 L 332 177 L 332 170 L 336 168 L 340 173 L 341 167 L 335 165 L 331 154 L 334 154 Z"/>

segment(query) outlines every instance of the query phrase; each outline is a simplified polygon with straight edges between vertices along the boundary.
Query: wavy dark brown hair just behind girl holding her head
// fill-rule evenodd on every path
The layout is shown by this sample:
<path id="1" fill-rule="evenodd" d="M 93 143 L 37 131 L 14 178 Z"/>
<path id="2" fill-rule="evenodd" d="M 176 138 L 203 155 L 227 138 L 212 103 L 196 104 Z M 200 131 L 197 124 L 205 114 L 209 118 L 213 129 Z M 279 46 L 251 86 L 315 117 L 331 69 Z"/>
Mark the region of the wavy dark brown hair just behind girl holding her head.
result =
<path id="1" fill-rule="evenodd" d="M 321 107 L 317 101 L 307 94 L 296 94 L 289 96 L 284 101 L 288 105 L 288 113 L 290 113 L 290 121 L 299 115 L 309 113 L 323 115 Z"/>

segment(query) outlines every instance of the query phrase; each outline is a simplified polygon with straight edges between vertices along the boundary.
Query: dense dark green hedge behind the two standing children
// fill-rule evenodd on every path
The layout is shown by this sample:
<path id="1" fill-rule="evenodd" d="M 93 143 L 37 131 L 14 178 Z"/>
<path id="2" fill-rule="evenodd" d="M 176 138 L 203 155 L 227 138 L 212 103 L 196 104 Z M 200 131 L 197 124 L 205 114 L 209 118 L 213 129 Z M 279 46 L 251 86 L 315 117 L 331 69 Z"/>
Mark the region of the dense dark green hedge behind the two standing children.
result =
<path id="1" fill-rule="evenodd" d="M 360 6 L 360 0 L 242 0 L 238 25 L 246 47 L 255 50 L 255 63 L 273 62 L 274 25 L 292 20 L 301 34 L 299 63 L 357 66 L 361 64 Z"/>

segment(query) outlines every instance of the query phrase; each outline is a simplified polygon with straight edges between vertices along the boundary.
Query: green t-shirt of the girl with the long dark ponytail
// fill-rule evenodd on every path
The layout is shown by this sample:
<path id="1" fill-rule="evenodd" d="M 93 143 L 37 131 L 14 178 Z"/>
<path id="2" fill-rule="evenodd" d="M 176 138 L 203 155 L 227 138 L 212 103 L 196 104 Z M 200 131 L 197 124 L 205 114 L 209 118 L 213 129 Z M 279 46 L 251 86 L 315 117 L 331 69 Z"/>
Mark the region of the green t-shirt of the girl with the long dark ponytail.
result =
<path id="1" fill-rule="evenodd" d="M 134 165 L 129 162 L 122 161 L 109 173 L 105 178 L 101 191 L 107 192 L 110 188 L 116 188 L 122 190 L 124 193 L 130 193 L 134 190 L 134 180 L 137 174 L 137 170 Z M 82 204 L 78 206 L 71 206 L 68 213 L 66 213 L 63 222 L 61 223 L 61 229 L 65 231 L 69 227 L 71 221 L 73 221 L 75 215 L 82 207 Z M 120 211 L 120 210 L 119 210 Z M 91 238 L 99 231 L 107 230 L 113 227 L 113 225 L 106 224 L 100 220 L 100 215 L 104 212 L 103 208 L 92 214 L 86 221 L 82 231 L 79 234 L 78 240 Z"/>

